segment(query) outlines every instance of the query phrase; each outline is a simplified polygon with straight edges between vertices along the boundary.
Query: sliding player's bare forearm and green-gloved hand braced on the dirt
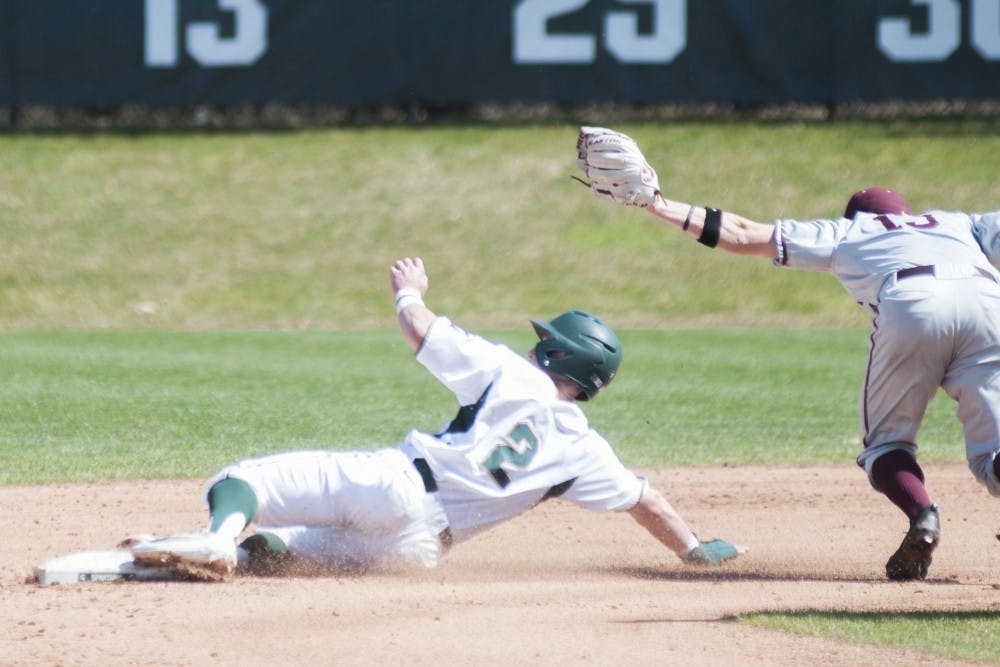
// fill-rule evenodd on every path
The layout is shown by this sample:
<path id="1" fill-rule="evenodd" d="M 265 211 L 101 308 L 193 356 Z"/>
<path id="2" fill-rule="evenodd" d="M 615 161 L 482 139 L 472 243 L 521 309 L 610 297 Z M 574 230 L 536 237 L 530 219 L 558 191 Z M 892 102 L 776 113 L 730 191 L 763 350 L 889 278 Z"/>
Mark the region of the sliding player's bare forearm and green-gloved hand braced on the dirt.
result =
<path id="1" fill-rule="evenodd" d="M 659 491 L 647 486 L 629 514 L 640 526 L 689 563 L 714 565 L 746 552 L 723 540 L 700 541 Z"/>

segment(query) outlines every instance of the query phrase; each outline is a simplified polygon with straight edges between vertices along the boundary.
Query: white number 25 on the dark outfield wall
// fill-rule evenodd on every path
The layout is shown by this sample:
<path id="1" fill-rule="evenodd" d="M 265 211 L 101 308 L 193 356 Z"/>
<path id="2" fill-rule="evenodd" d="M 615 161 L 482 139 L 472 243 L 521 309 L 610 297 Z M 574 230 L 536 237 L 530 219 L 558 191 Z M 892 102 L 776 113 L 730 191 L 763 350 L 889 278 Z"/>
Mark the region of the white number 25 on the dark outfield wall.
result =
<path id="1" fill-rule="evenodd" d="M 514 63 L 587 65 L 597 57 L 597 38 L 586 33 L 551 34 L 551 19 L 582 9 L 589 0 L 520 0 L 514 6 Z M 669 63 L 687 46 L 687 0 L 619 0 L 623 5 L 652 5 L 653 29 L 639 33 L 634 11 L 604 16 L 604 48 L 622 63 Z"/>

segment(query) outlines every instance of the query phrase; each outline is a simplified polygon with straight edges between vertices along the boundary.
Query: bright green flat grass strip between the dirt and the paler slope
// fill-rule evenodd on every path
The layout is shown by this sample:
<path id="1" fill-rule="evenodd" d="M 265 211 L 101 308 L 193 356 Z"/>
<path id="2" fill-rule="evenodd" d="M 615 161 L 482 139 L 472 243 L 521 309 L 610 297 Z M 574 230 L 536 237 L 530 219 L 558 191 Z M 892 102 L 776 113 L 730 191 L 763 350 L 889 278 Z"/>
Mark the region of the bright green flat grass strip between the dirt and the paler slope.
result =
<path id="1" fill-rule="evenodd" d="M 527 350 L 527 331 L 490 332 Z M 843 463 L 856 456 L 865 332 L 636 330 L 586 406 L 634 466 Z M 817 354 L 822 350 L 822 354 Z M 0 482 L 207 476 L 276 449 L 396 444 L 454 398 L 398 332 L 7 332 Z M 960 460 L 932 404 L 924 460 Z"/>

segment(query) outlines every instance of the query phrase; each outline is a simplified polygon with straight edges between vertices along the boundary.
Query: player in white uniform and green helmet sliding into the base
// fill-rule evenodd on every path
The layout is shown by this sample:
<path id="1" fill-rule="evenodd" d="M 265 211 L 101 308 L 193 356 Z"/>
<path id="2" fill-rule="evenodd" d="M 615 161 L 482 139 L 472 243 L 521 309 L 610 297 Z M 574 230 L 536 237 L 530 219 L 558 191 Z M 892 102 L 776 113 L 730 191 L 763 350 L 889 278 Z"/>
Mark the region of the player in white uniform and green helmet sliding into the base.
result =
<path id="1" fill-rule="evenodd" d="M 330 566 L 434 567 L 453 544 L 561 497 L 623 510 L 688 563 L 742 547 L 701 542 L 648 481 L 627 470 L 575 401 L 607 386 L 621 345 L 604 322 L 571 310 L 532 321 L 527 358 L 431 312 L 420 259 L 390 269 L 403 337 L 462 406 L 440 433 L 410 431 L 377 451 L 293 451 L 242 461 L 210 481 L 207 530 L 141 542 L 137 562 L 188 571 L 265 570 L 296 559 Z M 237 547 L 244 528 L 256 532 Z"/>

